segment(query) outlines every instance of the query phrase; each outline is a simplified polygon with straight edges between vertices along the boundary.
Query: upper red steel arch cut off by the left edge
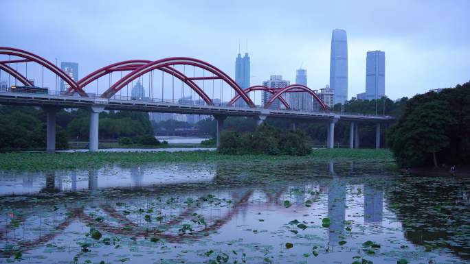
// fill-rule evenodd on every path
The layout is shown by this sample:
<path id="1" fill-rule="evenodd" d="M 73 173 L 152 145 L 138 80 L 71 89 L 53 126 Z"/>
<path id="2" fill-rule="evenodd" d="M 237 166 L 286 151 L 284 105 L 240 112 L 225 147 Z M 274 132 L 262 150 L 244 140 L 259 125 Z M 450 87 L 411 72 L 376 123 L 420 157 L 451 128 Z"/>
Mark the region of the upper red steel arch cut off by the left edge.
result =
<path id="1" fill-rule="evenodd" d="M 49 62 L 48 60 L 45 60 L 44 58 L 37 56 L 36 54 L 24 51 L 22 49 L 15 49 L 11 47 L 0 47 L 0 54 L 12 55 L 41 64 L 42 66 L 46 67 L 47 69 L 58 75 L 58 77 L 64 80 L 64 82 L 67 82 L 67 84 L 69 84 L 71 88 L 77 91 L 81 96 L 88 97 L 87 93 L 85 93 L 85 91 L 79 88 L 76 82 L 69 75 L 67 75 L 67 73 L 62 71 L 60 68 L 56 67 L 56 65 L 52 64 L 52 62 Z M 26 62 L 26 60 L 23 61 Z"/>

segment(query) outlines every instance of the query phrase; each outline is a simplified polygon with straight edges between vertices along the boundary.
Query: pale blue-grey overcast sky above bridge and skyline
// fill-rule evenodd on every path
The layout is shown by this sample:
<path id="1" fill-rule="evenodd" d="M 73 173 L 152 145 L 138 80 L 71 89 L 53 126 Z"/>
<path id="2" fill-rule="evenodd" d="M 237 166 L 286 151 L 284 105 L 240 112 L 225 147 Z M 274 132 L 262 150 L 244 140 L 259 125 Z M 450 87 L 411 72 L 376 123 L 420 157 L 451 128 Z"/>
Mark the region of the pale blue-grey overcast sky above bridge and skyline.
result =
<path id="1" fill-rule="evenodd" d="M 79 77 L 129 59 L 190 56 L 234 77 L 238 41 L 251 85 L 281 74 L 329 82 L 331 32 L 348 34 L 348 98 L 365 91 L 366 52 L 385 51 L 392 99 L 470 80 L 470 1 L 1 0 L 0 46 L 79 63 Z"/>

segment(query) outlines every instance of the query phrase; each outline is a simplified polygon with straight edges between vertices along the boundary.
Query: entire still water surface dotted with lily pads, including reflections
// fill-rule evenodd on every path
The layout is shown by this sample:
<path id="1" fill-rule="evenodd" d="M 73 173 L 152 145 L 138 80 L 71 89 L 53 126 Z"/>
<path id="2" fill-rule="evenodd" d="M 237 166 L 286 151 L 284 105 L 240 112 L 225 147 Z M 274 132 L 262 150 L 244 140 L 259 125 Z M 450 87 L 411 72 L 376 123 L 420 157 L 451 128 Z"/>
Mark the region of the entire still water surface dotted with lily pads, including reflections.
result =
<path id="1" fill-rule="evenodd" d="M 470 179 L 388 168 L 332 160 L 2 172 L 0 263 L 469 263 Z"/>

